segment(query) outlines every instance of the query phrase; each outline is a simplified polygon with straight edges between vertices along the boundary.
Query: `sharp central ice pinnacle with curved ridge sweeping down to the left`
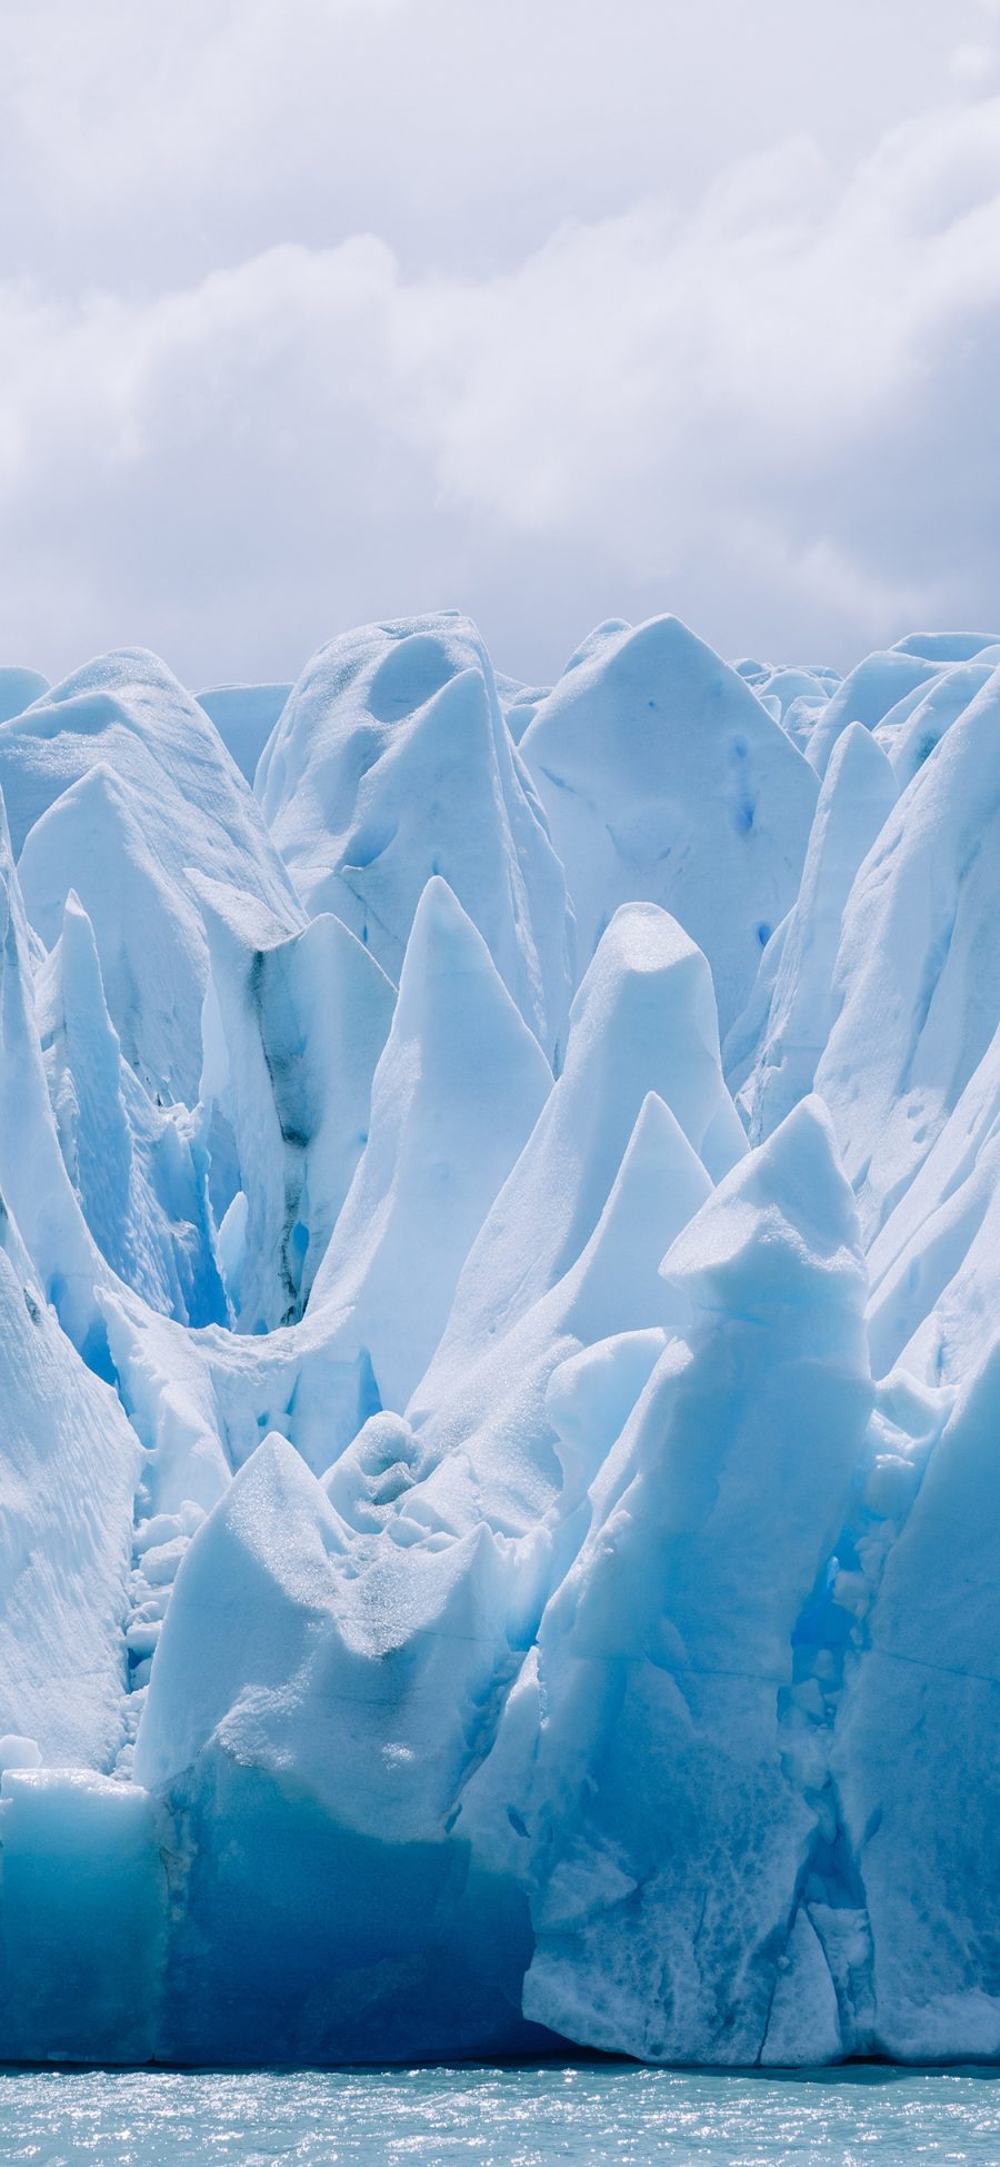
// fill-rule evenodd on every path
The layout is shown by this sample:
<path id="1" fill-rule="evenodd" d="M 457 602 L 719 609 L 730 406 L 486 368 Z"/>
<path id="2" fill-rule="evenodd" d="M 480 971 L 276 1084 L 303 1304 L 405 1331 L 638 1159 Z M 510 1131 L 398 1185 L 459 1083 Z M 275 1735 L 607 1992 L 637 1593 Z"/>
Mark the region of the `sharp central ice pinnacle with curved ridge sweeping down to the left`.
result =
<path id="1" fill-rule="evenodd" d="M 149 1333 L 134 1305 L 108 1305 L 115 1361 L 171 1484 L 184 1450 L 199 1454 L 214 1437 L 212 1482 L 271 1428 L 323 1471 L 372 1411 L 403 1411 L 461 1259 L 550 1088 L 481 934 L 446 884 L 429 882 L 372 1081 L 368 1144 L 301 1324 L 177 1339 L 165 1324 Z"/>

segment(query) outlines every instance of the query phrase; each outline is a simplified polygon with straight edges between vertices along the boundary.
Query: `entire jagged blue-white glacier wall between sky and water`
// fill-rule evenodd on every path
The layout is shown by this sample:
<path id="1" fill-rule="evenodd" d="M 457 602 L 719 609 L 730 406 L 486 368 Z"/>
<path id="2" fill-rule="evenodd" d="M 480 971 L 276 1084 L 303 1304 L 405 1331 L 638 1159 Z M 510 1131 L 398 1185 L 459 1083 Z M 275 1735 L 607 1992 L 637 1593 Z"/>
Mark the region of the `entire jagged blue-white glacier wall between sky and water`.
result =
<path id="1" fill-rule="evenodd" d="M 1000 635 L 0 795 L 0 2059 L 1000 2061 Z"/>

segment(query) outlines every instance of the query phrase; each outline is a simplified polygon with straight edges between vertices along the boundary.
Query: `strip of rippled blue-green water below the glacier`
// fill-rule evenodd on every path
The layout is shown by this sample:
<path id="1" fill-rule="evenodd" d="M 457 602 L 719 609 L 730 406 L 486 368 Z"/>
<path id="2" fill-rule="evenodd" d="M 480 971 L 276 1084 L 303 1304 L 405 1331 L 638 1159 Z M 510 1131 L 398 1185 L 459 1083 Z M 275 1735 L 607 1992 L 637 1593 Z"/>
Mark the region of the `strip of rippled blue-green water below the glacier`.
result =
<path id="1" fill-rule="evenodd" d="M 0 2160 L 32 2167 L 909 2167 L 1000 2163 L 1000 2082 L 857 2069 L 0 2072 Z"/>

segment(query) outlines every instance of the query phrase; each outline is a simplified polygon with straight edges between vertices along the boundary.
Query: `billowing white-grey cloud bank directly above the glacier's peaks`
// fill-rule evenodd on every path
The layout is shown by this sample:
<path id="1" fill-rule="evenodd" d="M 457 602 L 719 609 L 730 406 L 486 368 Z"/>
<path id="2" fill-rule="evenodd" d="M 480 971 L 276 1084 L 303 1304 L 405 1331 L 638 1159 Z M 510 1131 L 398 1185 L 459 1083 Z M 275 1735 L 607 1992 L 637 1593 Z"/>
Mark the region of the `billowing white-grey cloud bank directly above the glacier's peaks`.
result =
<path id="1" fill-rule="evenodd" d="M 1000 102 L 805 134 L 483 275 L 279 245 L 171 293 L 0 288 L 0 650 L 284 674 L 478 611 L 498 663 L 675 607 L 729 652 L 1000 615 Z"/>

